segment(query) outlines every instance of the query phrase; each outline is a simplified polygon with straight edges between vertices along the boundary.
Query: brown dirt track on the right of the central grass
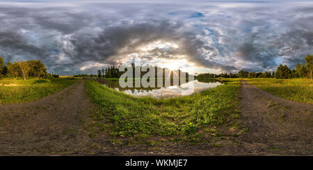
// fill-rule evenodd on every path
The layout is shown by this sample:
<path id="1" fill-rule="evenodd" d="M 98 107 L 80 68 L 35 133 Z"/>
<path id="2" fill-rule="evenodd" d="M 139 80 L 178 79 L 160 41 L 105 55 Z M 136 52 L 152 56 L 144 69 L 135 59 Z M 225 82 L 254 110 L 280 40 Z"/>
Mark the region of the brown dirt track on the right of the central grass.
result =
<path id="1" fill-rule="evenodd" d="M 281 99 L 241 82 L 241 141 L 282 154 L 313 154 L 313 105 Z"/>

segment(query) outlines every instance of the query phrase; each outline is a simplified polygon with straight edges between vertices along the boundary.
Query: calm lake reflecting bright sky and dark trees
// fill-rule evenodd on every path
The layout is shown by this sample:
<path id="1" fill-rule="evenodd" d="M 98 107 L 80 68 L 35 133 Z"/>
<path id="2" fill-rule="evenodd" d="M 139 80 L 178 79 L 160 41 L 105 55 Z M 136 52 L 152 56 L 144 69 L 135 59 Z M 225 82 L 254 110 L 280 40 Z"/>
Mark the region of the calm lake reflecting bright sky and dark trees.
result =
<path id="1" fill-rule="evenodd" d="M 163 87 L 120 87 L 118 80 L 99 80 L 99 83 L 109 87 L 111 89 L 117 90 L 119 92 L 124 92 L 125 94 L 130 94 L 131 96 L 152 96 L 154 98 L 170 98 L 175 96 L 188 96 L 203 90 L 214 88 L 218 85 L 223 85 L 225 81 L 222 80 L 192 80 L 188 83 L 182 83 L 179 85 L 166 85 Z M 188 88 L 190 87 L 190 88 Z"/>

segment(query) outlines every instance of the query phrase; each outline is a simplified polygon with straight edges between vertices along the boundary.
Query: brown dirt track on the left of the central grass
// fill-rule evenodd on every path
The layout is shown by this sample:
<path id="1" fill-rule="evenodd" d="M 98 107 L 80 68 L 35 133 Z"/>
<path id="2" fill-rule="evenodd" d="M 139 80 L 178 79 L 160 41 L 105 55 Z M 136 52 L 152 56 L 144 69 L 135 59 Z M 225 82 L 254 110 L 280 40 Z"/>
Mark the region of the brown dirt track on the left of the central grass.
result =
<path id="1" fill-rule="evenodd" d="M 83 80 L 38 101 L 0 105 L 0 155 L 82 151 L 89 137 L 81 119 L 90 108 Z"/>

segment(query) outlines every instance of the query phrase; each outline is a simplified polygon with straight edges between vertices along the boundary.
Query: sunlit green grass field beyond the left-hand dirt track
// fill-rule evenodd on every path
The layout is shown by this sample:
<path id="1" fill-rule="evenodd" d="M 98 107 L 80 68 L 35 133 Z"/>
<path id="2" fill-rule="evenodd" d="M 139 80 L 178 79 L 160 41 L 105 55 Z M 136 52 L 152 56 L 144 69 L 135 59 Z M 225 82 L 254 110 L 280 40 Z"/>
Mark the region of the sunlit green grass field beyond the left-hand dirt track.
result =
<path id="1" fill-rule="evenodd" d="M 68 78 L 51 79 L 0 79 L 0 103 L 21 103 L 34 101 L 44 96 L 54 94 L 77 80 Z"/>

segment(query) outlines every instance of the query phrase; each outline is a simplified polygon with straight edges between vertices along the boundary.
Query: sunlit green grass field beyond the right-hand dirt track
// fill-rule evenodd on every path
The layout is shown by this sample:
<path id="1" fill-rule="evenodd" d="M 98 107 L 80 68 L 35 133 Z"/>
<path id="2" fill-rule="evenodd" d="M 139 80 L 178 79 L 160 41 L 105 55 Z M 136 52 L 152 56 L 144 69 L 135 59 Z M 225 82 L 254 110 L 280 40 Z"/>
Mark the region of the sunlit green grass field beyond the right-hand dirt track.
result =
<path id="1" fill-rule="evenodd" d="M 248 83 L 284 99 L 313 103 L 313 83 L 305 78 L 245 78 Z"/>

